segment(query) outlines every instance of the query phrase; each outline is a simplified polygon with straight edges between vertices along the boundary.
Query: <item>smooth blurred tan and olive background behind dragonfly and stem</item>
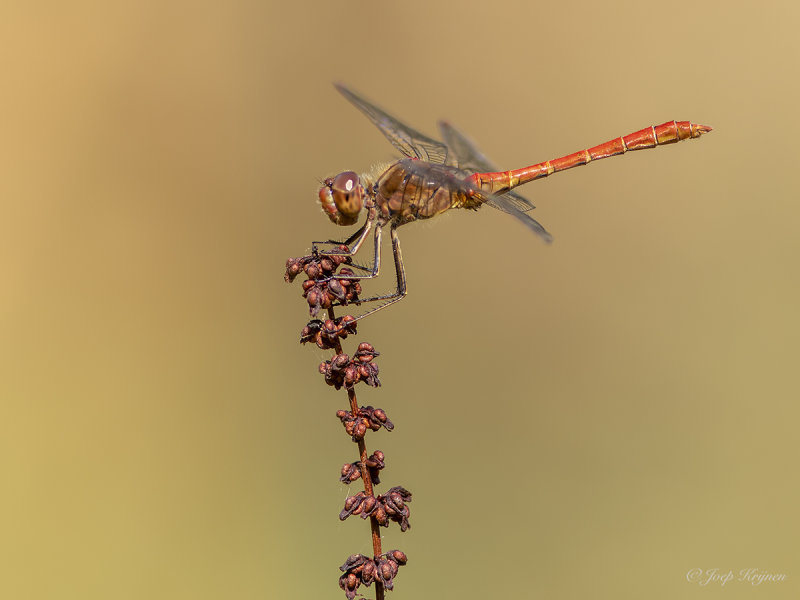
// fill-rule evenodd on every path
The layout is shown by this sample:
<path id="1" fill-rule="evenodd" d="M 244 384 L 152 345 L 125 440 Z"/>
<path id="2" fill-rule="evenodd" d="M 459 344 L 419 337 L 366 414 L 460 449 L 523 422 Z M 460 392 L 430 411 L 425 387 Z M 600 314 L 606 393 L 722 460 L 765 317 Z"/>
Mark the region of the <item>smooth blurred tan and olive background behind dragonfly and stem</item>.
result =
<path id="1" fill-rule="evenodd" d="M 0 9 L 0 597 L 343 597 L 345 395 L 283 264 L 343 233 L 319 179 L 396 154 L 334 80 L 505 168 L 715 128 L 528 186 L 550 247 L 401 230 L 358 337 L 393 597 L 798 596 L 797 3 L 449 4 Z"/>

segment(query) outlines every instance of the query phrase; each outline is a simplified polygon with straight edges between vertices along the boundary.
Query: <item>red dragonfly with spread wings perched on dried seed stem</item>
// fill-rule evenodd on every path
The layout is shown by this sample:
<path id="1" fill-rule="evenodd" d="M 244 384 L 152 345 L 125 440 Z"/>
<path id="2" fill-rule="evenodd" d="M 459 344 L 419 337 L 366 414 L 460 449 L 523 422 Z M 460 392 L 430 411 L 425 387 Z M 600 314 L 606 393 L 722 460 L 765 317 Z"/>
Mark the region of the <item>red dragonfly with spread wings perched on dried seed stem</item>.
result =
<path id="1" fill-rule="evenodd" d="M 391 226 L 397 289 L 391 294 L 361 300 L 361 302 L 376 300 L 385 302 L 359 316 L 358 319 L 377 312 L 406 295 L 405 270 L 400 253 L 400 241 L 397 237 L 397 228 L 401 225 L 429 219 L 451 208 L 477 210 L 486 204 L 516 217 L 539 237 L 550 242 L 552 236 L 538 221 L 527 214 L 534 208 L 533 204 L 513 192 L 514 188 L 594 160 L 617 156 L 631 150 L 673 144 L 700 137 L 711 131 L 711 127 L 707 125 L 697 125 L 689 121 L 667 121 L 561 158 L 512 171 L 498 171 L 472 142 L 449 123 L 439 122 L 439 130 L 444 140 L 440 142 L 401 123 L 344 85 L 335 85 L 336 89 L 363 112 L 405 156 L 383 171 L 377 179 L 369 176 L 359 177 L 352 171 L 345 171 L 326 179 L 319 190 L 322 210 L 337 225 L 354 225 L 358 222 L 362 209 L 366 209 L 367 212 L 364 225 L 343 242 L 348 246 L 349 252 L 332 250 L 325 254 L 352 256 L 359 251 L 369 232 L 375 229 L 372 268 L 358 267 L 367 273 L 358 276 L 334 276 L 334 279 L 377 277 L 381 264 L 381 233 L 386 225 Z M 341 242 L 330 240 L 319 243 Z"/>

